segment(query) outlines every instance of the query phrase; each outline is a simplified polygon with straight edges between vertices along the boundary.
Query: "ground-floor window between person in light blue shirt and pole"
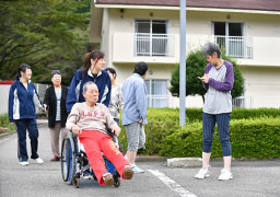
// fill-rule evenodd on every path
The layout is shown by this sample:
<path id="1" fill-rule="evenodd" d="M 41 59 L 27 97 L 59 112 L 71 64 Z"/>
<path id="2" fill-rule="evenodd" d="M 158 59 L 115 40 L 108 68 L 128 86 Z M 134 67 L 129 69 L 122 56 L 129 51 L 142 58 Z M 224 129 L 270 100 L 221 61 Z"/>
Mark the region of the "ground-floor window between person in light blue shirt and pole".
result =
<path id="1" fill-rule="evenodd" d="M 168 107 L 167 80 L 145 80 L 149 107 Z"/>

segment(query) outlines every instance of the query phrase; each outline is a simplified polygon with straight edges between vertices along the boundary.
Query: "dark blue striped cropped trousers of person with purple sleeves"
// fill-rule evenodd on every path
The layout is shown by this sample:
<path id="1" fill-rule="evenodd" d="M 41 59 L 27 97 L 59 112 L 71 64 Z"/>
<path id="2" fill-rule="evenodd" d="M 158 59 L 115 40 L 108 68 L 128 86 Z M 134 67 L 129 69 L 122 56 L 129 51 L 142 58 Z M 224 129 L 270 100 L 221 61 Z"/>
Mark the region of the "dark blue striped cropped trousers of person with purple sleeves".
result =
<path id="1" fill-rule="evenodd" d="M 203 144 L 202 150 L 210 153 L 212 150 L 213 134 L 215 124 L 218 125 L 219 141 L 222 146 L 223 157 L 232 155 L 230 141 L 230 120 L 231 114 L 202 114 L 203 120 Z"/>

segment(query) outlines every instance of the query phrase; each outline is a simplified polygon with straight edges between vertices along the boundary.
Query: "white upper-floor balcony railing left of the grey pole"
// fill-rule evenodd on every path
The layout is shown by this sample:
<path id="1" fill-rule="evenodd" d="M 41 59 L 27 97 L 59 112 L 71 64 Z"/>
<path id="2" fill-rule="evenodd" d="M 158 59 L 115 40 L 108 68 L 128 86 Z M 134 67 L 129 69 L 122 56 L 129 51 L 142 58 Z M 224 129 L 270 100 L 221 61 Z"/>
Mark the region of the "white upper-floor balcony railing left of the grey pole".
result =
<path id="1" fill-rule="evenodd" d="M 174 57 L 174 48 L 173 34 L 135 34 L 135 56 Z"/>

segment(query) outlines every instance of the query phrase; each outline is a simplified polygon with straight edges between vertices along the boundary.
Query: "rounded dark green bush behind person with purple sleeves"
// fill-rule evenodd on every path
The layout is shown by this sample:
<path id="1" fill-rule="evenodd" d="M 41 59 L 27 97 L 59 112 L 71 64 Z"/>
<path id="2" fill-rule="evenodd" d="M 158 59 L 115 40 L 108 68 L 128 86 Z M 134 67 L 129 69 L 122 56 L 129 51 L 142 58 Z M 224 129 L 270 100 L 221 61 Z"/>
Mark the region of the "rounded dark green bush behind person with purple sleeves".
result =
<path id="1" fill-rule="evenodd" d="M 241 96 L 244 92 L 244 79 L 241 70 L 236 66 L 236 61 L 222 54 L 222 58 L 233 63 L 234 86 L 232 96 Z M 207 60 L 201 50 L 190 51 L 186 60 L 186 96 L 201 95 L 205 101 L 206 90 L 202 88 L 201 81 L 197 77 L 205 74 Z M 170 91 L 172 95 L 179 96 L 179 66 L 173 71 Z"/>

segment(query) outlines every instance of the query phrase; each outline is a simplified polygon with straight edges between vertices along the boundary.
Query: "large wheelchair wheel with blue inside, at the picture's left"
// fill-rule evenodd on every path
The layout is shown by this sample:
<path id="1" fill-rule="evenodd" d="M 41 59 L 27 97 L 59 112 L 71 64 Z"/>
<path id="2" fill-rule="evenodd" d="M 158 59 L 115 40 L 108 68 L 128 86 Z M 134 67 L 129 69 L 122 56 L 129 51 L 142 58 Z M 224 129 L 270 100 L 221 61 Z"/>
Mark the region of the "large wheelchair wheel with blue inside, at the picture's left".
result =
<path id="1" fill-rule="evenodd" d="M 73 183 L 73 178 L 77 172 L 77 151 L 75 143 L 72 137 L 63 139 L 61 149 L 61 173 L 62 178 L 69 185 Z"/>

